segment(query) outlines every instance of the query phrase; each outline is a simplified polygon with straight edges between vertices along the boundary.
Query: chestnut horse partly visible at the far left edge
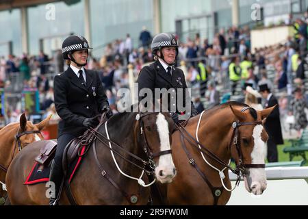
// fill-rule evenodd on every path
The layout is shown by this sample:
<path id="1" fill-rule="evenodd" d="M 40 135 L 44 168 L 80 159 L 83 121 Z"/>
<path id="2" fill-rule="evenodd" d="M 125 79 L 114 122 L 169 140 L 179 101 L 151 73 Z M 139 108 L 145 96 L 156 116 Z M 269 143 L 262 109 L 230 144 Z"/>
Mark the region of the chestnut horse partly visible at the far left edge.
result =
<path id="1" fill-rule="evenodd" d="M 49 120 L 50 116 L 34 125 L 22 114 L 19 123 L 10 123 L 0 130 L 0 197 L 6 195 L 5 176 L 12 159 L 27 144 L 43 139 L 40 131 L 48 125 Z"/>

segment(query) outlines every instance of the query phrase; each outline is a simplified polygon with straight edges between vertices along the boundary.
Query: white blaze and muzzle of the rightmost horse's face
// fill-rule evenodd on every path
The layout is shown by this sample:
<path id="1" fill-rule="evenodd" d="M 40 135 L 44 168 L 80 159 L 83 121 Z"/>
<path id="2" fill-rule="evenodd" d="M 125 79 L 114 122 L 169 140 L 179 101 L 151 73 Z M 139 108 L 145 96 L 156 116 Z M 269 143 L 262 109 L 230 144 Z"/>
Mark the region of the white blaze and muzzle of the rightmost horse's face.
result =
<path id="1" fill-rule="evenodd" d="M 266 157 L 266 142 L 261 139 L 262 125 L 253 129 L 254 147 L 251 152 L 252 164 L 264 164 Z M 245 187 L 248 192 L 262 194 L 266 190 L 266 172 L 264 168 L 247 168 L 244 177 Z"/>

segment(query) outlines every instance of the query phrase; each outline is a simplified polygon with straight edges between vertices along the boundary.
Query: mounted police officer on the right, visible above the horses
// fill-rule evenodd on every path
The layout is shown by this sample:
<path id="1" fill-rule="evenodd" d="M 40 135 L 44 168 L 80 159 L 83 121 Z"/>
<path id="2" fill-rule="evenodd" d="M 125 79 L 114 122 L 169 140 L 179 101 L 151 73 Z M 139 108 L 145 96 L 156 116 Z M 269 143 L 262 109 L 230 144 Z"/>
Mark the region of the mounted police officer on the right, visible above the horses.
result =
<path id="1" fill-rule="evenodd" d="M 157 34 L 151 44 L 153 57 L 156 61 L 149 66 L 144 66 L 138 77 L 139 94 L 143 88 L 151 90 L 153 98 L 155 97 L 155 88 L 166 88 L 166 90 L 171 91 L 170 96 L 168 96 L 168 111 L 172 112 L 172 118 L 176 123 L 179 119 L 179 114 L 185 114 L 186 116 L 196 116 L 198 114 L 190 101 L 189 94 L 186 94 L 187 86 L 183 71 L 174 66 L 179 53 L 178 47 L 177 39 L 172 34 Z M 172 93 L 175 95 L 172 95 Z M 139 100 L 142 101 L 144 97 L 146 96 L 140 95 Z M 157 99 L 161 97 L 162 95 L 156 96 Z M 178 104 L 177 101 L 183 101 L 183 103 Z M 185 105 L 185 103 L 188 103 L 189 106 Z M 185 109 L 189 108 L 189 110 L 184 112 L 179 109 L 179 105 L 185 107 Z"/>

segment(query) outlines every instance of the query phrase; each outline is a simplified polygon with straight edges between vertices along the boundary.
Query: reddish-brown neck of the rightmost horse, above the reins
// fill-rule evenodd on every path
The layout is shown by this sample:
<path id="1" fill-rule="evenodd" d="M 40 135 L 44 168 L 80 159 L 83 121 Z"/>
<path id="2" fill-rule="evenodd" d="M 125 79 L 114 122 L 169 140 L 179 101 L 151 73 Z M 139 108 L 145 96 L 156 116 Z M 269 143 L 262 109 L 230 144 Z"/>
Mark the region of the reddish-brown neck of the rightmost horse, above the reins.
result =
<path id="1" fill-rule="evenodd" d="M 196 129 L 198 120 L 200 118 L 196 116 L 189 121 L 186 126 L 186 130 L 196 138 Z M 212 153 L 220 157 L 224 162 L 229 162 L 231 154 L 229 152 L 229 142 L 231 140 L 230 127 L 231 127 L 231 114 L 224 109 L 220 109 L 216 112 L 203 113 L 201 123 L 198 127 L 198 142 L 209 149 Z M 197 152 L 200 154 L 199 152 Z M 206 158 L 209 156 L 206 156 Z"/>

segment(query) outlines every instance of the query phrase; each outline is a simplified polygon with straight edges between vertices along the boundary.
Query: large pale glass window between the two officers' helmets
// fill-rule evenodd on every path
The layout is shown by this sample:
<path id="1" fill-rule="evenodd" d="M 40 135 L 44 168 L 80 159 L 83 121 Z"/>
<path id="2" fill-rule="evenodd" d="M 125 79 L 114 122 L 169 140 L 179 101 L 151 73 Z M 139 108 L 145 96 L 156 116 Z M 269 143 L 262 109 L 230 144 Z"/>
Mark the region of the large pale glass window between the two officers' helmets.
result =
<path id="1" fill-rule="evenodd" d="M 133 47 L 140 46 L 139 35 L 145 26 L 153 35 L 153 1 L 144 0 L 92 0 L 92 54 L 100 57 L 105 45 L 116 40 L 125 40 L 129 34 Z"/>

